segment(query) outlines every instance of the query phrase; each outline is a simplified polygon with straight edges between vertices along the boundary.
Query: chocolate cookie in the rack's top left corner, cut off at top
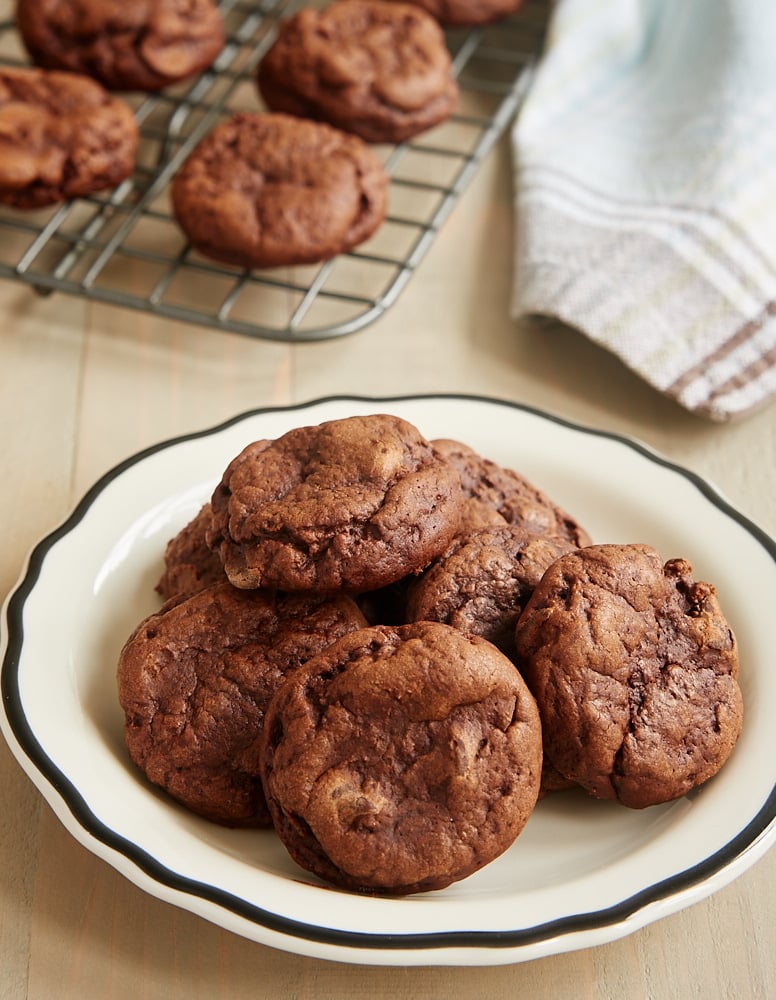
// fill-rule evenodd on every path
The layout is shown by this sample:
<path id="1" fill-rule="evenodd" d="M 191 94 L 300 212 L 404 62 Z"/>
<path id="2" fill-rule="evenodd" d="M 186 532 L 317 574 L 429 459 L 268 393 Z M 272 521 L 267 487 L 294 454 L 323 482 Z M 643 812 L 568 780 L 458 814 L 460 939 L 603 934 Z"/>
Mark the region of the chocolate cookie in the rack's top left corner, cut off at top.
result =
<path id="1" fill-rule="evenodd" d="M 16 23 L 39 66 L 109 90 L 160 90 L 207 69 L 224 45 L 213 0 L 17 0 Z"/>

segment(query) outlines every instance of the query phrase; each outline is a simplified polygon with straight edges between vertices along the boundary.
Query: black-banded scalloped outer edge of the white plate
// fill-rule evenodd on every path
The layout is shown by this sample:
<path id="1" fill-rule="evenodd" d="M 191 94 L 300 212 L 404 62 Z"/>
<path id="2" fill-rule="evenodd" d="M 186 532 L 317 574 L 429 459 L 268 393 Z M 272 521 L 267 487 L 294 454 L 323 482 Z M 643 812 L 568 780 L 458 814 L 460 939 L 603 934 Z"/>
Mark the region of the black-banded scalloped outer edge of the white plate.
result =
<path id="1" fill-rule="evenodd" d="M 202 900 L 211 906 L 217 907 L 220 911 L 231 914 L 233 917 L 238 918 L 239 921 L 247 922 L 249 928 L 263 928 L 270 932 L 270 934 L 280 935 L 287 942 L 288 950 L 298 951 L 298 948 L 292 947 L 293 943 L 307 942 L 310 945 L 323 946 L 324 948 L 334 949 L 338 952 L 342 952 L 343 950 L 353 950 L 356 953 L 361 952 L 365 958 L 368 957 L 373 961 L 380 961 L 381 956 L 385 955 L 396 957 L 401 952 L 414 953 L 415 955 L 431 952 L 432 955 L 429 960 L 433 961 L 434 952 L 438 953 L 446 949 L 469 949 L 482 953 L 495 952 L 504 955 L 508 954 L 508 960 L 516 961 L 521 959 L 521 952 L 539 949 L 542 945 L 546 945 L 547 942 L 555 939 L 582 935 L 584 940 L 580 944 L 573 945 L 573 947 L 582 947 L 586 944 L 595 943 L 588 941 L 587 938 L 592 938 L 594 932 L 600 932 L 604 928 L 609 930 L 618 928 L 621 933 L 614 936 L 624 936 L 631 929 L 635 930 L 638 926 L 642 926 L 648 922 L 648 913 L 651 909 L 673 900 L 679 900 L 679 902 L 672 909 L 680 909 L 684 905 L 688 905 L 690 902 L 701 898 L 701 895 L 707 895 L 714 891 L 717 883 L 721 887 L 721 885 L 731 881 L 765 853 L 770 846 L 769 840 L 776 834 L 776 783 L 772 786 L 770 794 L 757 813 L 721 848 L 683 871 L 661 879 L 603 909 L 587 910 L 582 913 L 558 917 L 533 926 L 515 928 L 514 930 L 455 929 L 428 932 L 414 931 L 408 934 L 355 931 L 352 929 L 325 927 L 320 924 L 308 923 L 278 914 L 249 900 L 241 899 L 227 890 L 181 875 L 157 861 L 148 851 L 139 847 L 121 833 L 111 829 L 95 815 L 73 781 L 63 773 L 60 767 L 43 749 L 26 718 L 19 687 L 19 666 L 25 638 L 23 628 L 25 603 L 40 578 L 48 552 L 61 538 L 70 534 L 78 526 L 97 498 L 110 483 L 118 479 L 128 469 L 142 463 L 152 455 L 188 441 L 217 435 L 239 423 L 261 417 L 268 413 L 301 412 L 341 403 L 359 405 L 369 403 L 384 406 L 391 403 L 406 404 L 425 401 L 466 401 L 504 406 L 542 420 L 550 421 L 574 432 L 604 438 L 632 449 L 650 462 L 656 463 L 688 480 L 707 501 L 713 504 L 724 515 L 736 521 L 749 533 L 770 555 L 773 562 L 776 563 L 776 540 L 771 538 L 764 529 L 728 501 L 719 489 L 705 477 L 660 454 L 633 436 L 585 425 L 548 412 L 537 406 L 483 394 L 453 392 L 396 394 L 390 396 L 354 395 L 347 393 L 315 397 L 298 403 L 259 406 L 241 411 L 217 424 L 165 438 L 116 463 L 86 490 L 70 514 L 33 546 L 17 583 L 11 588 L 4 601 L 2 620 L 0 620 L 0 628 L 2 628 L 3 633 L 0 688 L 2 690 L 4 734 L 8 737 L 10 732 L 13 740 L 7 739 L 7 742 L 17 761 L 37 786 L 44 799 L 54 808 L 59 819 L 71 835 L 75 836 L 87 849 L 97 853 L 103 860 L 108 861 L 121 874 L 130 879 L 130 881 L 134 881 L 132 875 L 127 871 L 128 862 L 133 869 L 142 874 L 144 880 L 151 883 L 151 885 L 147 885 L 146 881 L 142 883 L 143 887 L 151 894 L 155 894 L 167 902 L 174 902 L 170 900 L 168 895 L 158 892 L 154 893 L 153 886 L 158 885 L 165 890 L 169 890 L 176 896 L 182 894 L 186 899 Z M 8 728 L 8 732 L 6 732 L 6 727 Z M 76 828 L 73 828 L 71 823 L 67 821 L 68 817 L 72 817 L 72 822 L 76 825 Z M 100 850 L 95 850 L 97 845 L 102 845 Z M 141 883 L 136 882 L 136 884 Z M 707 889 L 707 892 L 703 892 L 704 888 Z M 682 901 L 683 897 L 691 898 Z M 178 905 L 185 908 L 183 902 L 179 902 Z M 189 909 L 192 908 L 189 907 Z M 206 919 L 208 918 L 207 914 L 203 913 L 201 909 L 194 910 L 193 912 L 198 912 L 200 915 L 205 916 Z M 639 920 L 639 915 L 646 916 L 643 916 Z M 214 918 L 210 919 L 211 922 L 218 923 Z M 222 926 L 226 925 L 222 924 Z M 245 929 L 237 929 L 236 932 L 241 933 L 243 936 L 252 936 L 250 933 L 246 933 Z M 261 940 L 261 938 L 255 939 Z M 606 938 L 606 940 L 611 939 L 611 936 Z M 268 943 L 272 943 L 277 947 L 284 947 L 283 944 Z M 568 950 L 568 948 L 564 948 L 563 950 Z M 367 955 L 367 952 L 372 954 Z M 539 954 L 539 951 L 536 951 L 536 954 Z M 319 957 L 326 958 L 329 956 L 322 954 Z M 337 955 L 332 957 L 336 958 Z M 526 954 L 524 957 L 533 956 Z M 382 960 L 384 961 L 385 959 L 383 958 Z"/>

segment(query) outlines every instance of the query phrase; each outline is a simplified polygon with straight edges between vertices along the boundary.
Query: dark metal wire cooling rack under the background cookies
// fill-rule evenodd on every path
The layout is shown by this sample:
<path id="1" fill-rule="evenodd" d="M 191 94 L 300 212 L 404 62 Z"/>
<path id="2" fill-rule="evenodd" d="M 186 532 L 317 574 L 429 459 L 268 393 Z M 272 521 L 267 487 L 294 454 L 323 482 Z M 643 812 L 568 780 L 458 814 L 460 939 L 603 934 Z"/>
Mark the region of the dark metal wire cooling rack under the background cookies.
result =
<path id="1" fill-rule="evenodd" d="M 0 206 L 0 277 L 250 337 L 322 340 L 362 329 L 397 299 L 457 198 L 514 118 L 541 48 L 546 0 L 498 24 L 446 32 L 460 88 L 446 123 L 375 147 L 390 177 L 388 216 L 366 243 L 322 265 L 240 270 L 191 249 L 168 186 L 221 118 L 257 111 L 255 69 L 294 0 L 223 0 L 227 43 L 212 69 L 161 94 L 125 95 L 140 126 L 133 175 L 55 208 Z M 0 0 L 0 63 L 28 62 Z"/>

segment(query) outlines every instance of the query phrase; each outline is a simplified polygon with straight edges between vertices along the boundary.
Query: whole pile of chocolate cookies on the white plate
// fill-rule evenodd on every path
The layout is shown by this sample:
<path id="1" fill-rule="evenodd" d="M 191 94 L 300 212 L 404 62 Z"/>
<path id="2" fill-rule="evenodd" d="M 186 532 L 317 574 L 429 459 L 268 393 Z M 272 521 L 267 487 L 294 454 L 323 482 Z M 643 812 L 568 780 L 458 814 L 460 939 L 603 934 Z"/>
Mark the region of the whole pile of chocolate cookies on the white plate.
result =
<path id="1" fill-rule="evenodd" d="M 164 563 L 118 665 L 130 756 L 346 889 L 462 879 L 553 789 L 668 801 L 740 732 L 735 638 L 684 560 L 593 545 L 389 414 L 250 443 Z"/>

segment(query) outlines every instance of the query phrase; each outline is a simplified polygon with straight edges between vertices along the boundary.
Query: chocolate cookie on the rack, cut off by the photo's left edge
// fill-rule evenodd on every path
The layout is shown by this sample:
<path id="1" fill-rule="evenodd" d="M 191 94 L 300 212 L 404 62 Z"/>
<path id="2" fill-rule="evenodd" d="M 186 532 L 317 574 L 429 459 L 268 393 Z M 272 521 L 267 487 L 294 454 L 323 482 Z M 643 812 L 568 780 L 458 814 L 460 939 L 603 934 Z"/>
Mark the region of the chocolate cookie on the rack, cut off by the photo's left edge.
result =
<path id="1" fill-rule="evenodd" d="M 94 80 L 0 67 L 0 202 L 38 208 L 113 188 L 137 142 L 132 110 Z"/>

